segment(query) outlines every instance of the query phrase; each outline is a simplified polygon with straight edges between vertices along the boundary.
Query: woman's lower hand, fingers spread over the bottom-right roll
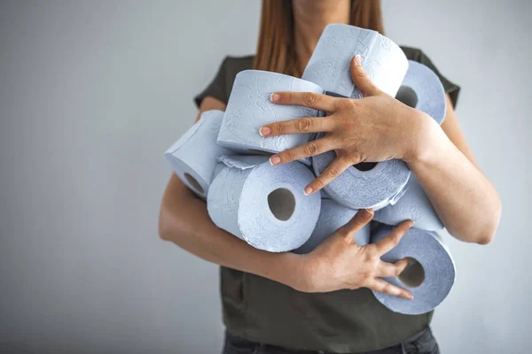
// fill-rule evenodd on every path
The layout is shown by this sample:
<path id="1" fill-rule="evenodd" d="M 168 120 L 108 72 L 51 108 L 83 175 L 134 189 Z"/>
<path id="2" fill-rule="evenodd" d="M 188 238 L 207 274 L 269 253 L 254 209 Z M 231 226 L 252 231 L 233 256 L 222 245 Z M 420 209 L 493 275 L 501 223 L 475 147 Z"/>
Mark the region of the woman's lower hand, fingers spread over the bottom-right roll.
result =
<path id="1" fill-rule="evenodd" d="M 329 292 L 340 289 L 369 288 L 393 296 L 413 299 L 410 291 L 401 289 L 380 279 L 393 277 L 403 272 L 407 260 L 401 259 L 395 264 L 383 262 L 380 257 L 392 250 L 403 235 L 414 224 L 404 221 L 374 244 L 359 246 L 354 235 L 373 217 L 371 210 L 360 210 L 353 219 L 340 227 L 331 237 L 321 243 L 316 250 L 305 255 L 304 274 L 307 279 L 306 292 Z"/>

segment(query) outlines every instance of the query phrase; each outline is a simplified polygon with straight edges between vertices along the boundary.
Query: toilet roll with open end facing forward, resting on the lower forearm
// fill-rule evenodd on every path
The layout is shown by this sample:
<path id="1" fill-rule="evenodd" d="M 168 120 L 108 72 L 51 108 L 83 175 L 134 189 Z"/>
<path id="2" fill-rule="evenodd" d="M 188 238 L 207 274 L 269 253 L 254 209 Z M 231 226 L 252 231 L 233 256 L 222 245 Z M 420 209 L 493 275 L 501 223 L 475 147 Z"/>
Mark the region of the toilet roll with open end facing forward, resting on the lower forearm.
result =
<path id="1" fill-rule="evenodd" d="M 211 183 L 207 211 L 217 227 L 260 250 L 284 252 L 309 239 L 320 211 L 319 193 L 304 196 L 314 175 L 293 161 L 270 165 L 267 157 L 222 157 Z"/>

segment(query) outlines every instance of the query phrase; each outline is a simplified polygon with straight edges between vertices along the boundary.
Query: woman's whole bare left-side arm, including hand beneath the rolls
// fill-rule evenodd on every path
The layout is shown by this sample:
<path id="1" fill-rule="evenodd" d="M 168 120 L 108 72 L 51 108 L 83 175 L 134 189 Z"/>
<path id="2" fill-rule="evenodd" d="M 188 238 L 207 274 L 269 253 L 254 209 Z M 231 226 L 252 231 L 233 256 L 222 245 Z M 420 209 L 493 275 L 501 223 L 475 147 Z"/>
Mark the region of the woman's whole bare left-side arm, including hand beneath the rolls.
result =
<path id="1" fill-rule="evenodd" d="M 225 105 L 207 97 L 200 114 L 211 109 L 224 110 Z M 359 247 L 353 235 L 372 215 L 372 211 L 356 213 L 348 225 L 308 255 L 271 253 L 257 250 L 216 227 L 207 214 L 207 204 L 172 173 L 160 205 L 159 235 L 209 262 L 261 275 L 293 289 L 325 292 L 366 287 L 411 298 L 410 292 L 379 278 L 397 275 L 407 265 L 406 260 L 382 262 L 380 256 L 395 247 L 412 223 L 403 223 L 378 244 Z"/>

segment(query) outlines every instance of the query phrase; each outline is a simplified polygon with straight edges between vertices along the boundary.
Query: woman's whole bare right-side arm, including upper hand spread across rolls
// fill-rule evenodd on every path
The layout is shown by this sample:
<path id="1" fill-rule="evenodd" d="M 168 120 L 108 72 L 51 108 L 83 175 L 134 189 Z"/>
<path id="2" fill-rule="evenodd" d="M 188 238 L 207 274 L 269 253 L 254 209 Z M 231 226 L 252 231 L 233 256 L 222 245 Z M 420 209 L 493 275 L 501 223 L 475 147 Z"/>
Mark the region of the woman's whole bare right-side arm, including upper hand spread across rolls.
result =
<path id="1" fill-rule="evenodd" d="M 261 134 L 265 136 L 326 133 L 314 142 L 272 156 L 270 162 L 278 165 L 335 150 L 337 158 L 306 187 L 309 194 L 325 187 L 350 165 L 402 158 L 416 174 L 451 235 L 465 242 L 488 243 L 497 230 L 500 201 L 497 191 L 474 165 L 450 104 L 440 127 L 425 113 L 375 87 L 357 57 L 351 73 L 363 99 L 295 92 L 271 96 L 276 104 L 308 106 L 327 112 L 327 117 L 293 119 L 262 127 Z"/>

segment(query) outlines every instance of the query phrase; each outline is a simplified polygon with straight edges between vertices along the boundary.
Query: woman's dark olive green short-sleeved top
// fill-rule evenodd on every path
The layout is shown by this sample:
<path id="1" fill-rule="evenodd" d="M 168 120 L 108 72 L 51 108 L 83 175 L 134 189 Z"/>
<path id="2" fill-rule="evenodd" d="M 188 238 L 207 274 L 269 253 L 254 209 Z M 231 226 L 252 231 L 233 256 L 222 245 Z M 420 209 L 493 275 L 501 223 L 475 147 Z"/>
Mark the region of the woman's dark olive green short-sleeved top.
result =
<path id="1" fill-rule="evenodd" d="M 453 104 L 459 88 L 421 51 L 402 47 L 407 58 L 431 68 Z M 253 56 L 223 60 L 215 79 L 195 102 L 211 96 L 227 104 L 235 76 L 251 69 Z M 277 281 L 220 267 L 223 323 L 231 335 L 299 350 L 350 353 L 392 346 L 425 329 L 433 312 L 403 315 L 380 304 L 369 289 L 302 293 Z"/>

